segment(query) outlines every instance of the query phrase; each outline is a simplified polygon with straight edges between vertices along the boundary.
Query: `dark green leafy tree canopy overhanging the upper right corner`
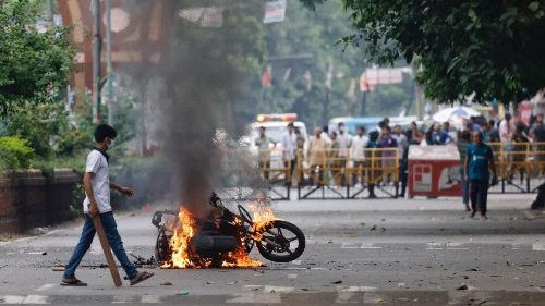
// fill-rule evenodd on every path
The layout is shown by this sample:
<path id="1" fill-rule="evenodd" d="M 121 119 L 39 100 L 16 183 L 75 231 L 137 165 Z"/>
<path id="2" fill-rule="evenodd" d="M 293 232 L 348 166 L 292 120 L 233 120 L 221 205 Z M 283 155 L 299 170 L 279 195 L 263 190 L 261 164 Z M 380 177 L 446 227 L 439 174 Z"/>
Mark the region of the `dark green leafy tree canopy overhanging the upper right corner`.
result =
<path id="1" fill-rule="evenodd" d="M 315 9 L 324 0 L 301 0 Z M 343 0 L 356 33 L 340 41 L 378 63 L 415 60 L 426 96 L 518 101 L 545 86 L 545 2 Z"/>

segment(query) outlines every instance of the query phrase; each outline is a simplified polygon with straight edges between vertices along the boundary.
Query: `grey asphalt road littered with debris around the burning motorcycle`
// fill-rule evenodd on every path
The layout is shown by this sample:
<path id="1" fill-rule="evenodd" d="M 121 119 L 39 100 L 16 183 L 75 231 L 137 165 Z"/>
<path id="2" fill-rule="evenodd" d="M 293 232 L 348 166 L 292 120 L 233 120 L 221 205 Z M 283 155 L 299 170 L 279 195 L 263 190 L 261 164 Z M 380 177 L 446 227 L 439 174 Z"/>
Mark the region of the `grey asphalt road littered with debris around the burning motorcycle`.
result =
<path id="1" fill-rule="evenodd" d="M 0 304 L 545 305 L 545 213 L 533 196 L 493 195 L 489 220 L 459 199 L 304 200 L 274 205 L 299 225 L 300 260 L 256 269 L 166 270 L 116 289 L 98 240 L 77 270 L 87 287 L 62 287 L 81 221 L 0 242 Z M 117 216 L 126 250 L 153 255 L 154 210 Z M 45 255 L 43 255 L 45 254 Z M 122 273 L 122 269 L 120 269 Z"/>

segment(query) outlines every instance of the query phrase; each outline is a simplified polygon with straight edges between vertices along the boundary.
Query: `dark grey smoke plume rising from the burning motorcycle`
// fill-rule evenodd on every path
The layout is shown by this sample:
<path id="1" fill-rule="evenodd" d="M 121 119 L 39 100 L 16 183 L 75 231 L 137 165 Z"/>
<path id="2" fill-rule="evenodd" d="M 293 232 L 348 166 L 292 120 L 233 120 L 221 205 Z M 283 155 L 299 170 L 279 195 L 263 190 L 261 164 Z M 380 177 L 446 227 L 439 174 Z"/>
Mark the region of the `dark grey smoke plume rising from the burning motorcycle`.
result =
<path id="1" fill-rule="evenodd" d="M 128 1 L 132 16 L 146 17 L 152 1 L 143 2 Z M 161 40 L 138 46 L 144 57 L 157 61 L 126 66 L 124 72 L 135 79 L 142 99 L 152 99 L 147 102 L 153 111 L 143 118 L 141 128 L 155 134 L 168 162 L 166 175 L 172 175 L 179 187 L 179 200 L 203 217 L 222 160 L 213 138 L 218 128 L 238 134 L 233 103 L 242 77 L 232 60 L 237 33 L 225 22 L 229 11 L 223 5 L 229 1 L 161 2 Z M 213 14 L 220 13 L 220 23 L 217 14 L 210 24 L 203 11 L 199 16 L 204 2 Z"/>

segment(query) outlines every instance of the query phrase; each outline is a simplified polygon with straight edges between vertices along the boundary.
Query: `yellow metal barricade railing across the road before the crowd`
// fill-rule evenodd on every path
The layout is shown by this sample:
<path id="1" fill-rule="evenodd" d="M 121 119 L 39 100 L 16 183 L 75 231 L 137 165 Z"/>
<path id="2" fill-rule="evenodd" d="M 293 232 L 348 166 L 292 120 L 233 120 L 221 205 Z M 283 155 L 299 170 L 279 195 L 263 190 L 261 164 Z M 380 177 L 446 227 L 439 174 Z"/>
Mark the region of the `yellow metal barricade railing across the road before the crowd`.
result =
<path id="1" fill-rule="evenodd" d="M 534 193 L 545 182 L 545 143 L 489 145 L 499 179 L 491 193 Z M 358 157 L 340 149 L 300 149 L 293 163 L 278 149 L 257 155 L 252 158 L 253 167 L 258 164 L 276 199 L 288 199 L 291 186 L 296 186 L 299 199 L 393 198 L 403 185 L 398 148 L 363 149 Z M 247 157 L 237 158 L 247 163 Z"/>

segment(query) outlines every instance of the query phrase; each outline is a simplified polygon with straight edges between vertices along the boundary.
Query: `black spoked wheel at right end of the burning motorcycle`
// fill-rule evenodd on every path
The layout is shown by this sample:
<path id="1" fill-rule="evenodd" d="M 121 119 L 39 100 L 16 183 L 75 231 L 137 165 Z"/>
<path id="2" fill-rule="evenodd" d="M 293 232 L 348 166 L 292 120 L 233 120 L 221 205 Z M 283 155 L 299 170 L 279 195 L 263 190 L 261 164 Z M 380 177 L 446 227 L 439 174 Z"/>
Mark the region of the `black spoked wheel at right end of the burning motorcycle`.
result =
<path id="1" fill-rule="evenodd" d="M 279 246 L 267 243 L 270 240 Z M 305 249 L 305 236 L 294 224 L 276 220 L 267 227 L 264 238 L 256 242 L 259 254 L 270 261 L 289 262 L 298 259 Z"/>

